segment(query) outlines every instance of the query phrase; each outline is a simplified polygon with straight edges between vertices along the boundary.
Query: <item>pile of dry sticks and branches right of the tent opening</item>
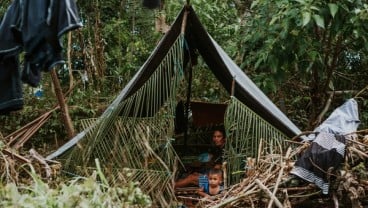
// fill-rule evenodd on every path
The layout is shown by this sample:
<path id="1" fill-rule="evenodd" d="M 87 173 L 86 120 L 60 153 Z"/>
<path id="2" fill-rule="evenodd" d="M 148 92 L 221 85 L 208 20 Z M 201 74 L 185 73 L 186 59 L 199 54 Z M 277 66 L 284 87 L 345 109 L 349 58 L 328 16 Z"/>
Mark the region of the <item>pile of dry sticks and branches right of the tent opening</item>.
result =
<path id="1" fill-rule="evenodd" d="M 365 131 L 360 131 L 364 133 Z M 358 132 L 359 133 L 359 132 Z M 368 135 L 346 140 L 339 168 L 325 171 L 328 194 L 320 187 L 291 174 L 297 158 L 311 148 L 311 141 L 293 142 L 279 155 L 259 152 L 248 159 L 246 177 L 220 195 L 199 200 L 197 207 L 363 207 L 368 205 Z M 281 148 L 280 148 L 281 150 Z M 317 164 L 314 164 L 317 167 Z"/>

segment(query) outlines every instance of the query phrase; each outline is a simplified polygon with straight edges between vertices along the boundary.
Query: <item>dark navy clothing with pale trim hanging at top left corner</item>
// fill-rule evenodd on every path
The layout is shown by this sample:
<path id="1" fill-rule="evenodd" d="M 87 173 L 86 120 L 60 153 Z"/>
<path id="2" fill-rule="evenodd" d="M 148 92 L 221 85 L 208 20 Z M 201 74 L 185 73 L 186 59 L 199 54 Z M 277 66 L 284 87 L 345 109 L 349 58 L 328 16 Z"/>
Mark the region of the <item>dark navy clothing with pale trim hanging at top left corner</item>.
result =
<path id="1" fill-rule="evenodd" d="M 19 78 L 36 87 L 41 81 L 42 71 L 49 71 L 55 65 L 64 63 L 61 36 L 81 26 L 74 0 L 14 0 L 0 24 L 0 56 L 23 50 L 23 70 L 21 76 L 14 79 Z M 8 59 L 6 65 L 0 65 L 0 76 L 7 74 L 5 71 L 9 70 L 9 66 L 16 65 L 9 63 L 15 60 Z M 5 90 L 11 91 L 12 86 L 8 87 Z M 0 101 L 7 102 L 3 99 Z M 1 102 L 0 111 L 4 110 Z"/>

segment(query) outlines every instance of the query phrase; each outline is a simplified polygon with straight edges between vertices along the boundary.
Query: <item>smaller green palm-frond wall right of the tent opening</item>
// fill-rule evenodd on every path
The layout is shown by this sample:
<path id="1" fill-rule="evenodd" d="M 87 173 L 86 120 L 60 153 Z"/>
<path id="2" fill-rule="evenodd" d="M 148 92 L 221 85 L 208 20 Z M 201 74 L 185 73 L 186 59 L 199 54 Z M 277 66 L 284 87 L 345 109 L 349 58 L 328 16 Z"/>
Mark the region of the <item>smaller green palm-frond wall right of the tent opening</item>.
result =
<path id="1" fill-rule="evenodd" d="M 228 184 L 239 183 L 244 178 L 247 158 L 259 159 L 258 155 L 279 153 L 287 136 L 262 117 L 231 97 L 225 112 L 227 142 L 224 157 L 227 162 Z M 262 148 L 259 148 L 261 145 Z M 263 152 L 259 152 L 263 151 Z"/>

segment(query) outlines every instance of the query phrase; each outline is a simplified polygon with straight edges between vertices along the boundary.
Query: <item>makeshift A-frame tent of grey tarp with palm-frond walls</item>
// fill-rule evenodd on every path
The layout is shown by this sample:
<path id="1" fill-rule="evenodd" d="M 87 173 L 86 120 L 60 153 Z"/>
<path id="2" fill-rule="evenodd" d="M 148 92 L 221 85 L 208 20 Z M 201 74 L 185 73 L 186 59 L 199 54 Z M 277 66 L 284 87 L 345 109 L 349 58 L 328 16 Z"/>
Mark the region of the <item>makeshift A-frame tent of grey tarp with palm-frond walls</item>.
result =
<path id="1" fill-rule="evenodd" d="M 211 38 L 193 8 L 187 5 L 102 116 L 86 121 L 84 131 L 47 159 L 64 158 L 69 170 L 84 171 L 98 158 L 113 181 L 140 181 L 146 192 L 159 199 L 156 203 L 170 204 L 175 161 L 180 160 L 172 148 L 176 95 L 184 74 L 191 73 L 188 63 L 196 52 L 232 98 L 224 119 L 229 131 L 229 160 L 243 161 L 244 156 L 250 155 L 242 151 L 254 146 L 243 140 L 263 138 L 280 142 L 300 133 Z M 125 167 L 130 168 L 129 174 L 123 174 Z M 230 172 L 241 168 L 229 167 Z M 152 181 L 154 185 L 146 186 Z"/>

